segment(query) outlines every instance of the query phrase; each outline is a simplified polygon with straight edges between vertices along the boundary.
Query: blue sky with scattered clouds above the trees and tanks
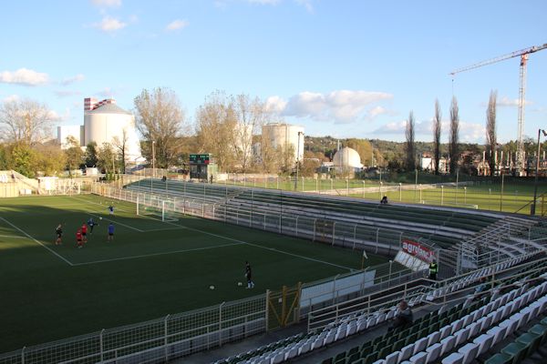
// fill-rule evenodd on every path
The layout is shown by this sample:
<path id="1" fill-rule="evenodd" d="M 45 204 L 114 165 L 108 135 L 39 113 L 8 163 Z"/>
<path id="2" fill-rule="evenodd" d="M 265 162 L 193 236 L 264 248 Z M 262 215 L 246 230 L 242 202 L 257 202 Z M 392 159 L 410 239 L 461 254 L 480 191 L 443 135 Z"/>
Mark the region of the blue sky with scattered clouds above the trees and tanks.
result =
<path id="1" fill-rule="evenodd" d="M 12 1 L 0 12 L 0 101 L 46 103 L 58 125 L 83 123 L 83 98 L 132 109 L 167 86 L 188 121 L 215 90 L 267 101 L 272 121 L 306 135 L 432 140 L 439 98 L 459 100 L 460 139 L 484 141 L 490 90 L 498 134 L 517 137 L 519 58 L 454 78 L 461 66 L 547 43 L 538 1 Z M 530 56 L 525 135 L 547 128 L 547 49 Z M 443 130 L 443 139 L 448 127 Z"/>

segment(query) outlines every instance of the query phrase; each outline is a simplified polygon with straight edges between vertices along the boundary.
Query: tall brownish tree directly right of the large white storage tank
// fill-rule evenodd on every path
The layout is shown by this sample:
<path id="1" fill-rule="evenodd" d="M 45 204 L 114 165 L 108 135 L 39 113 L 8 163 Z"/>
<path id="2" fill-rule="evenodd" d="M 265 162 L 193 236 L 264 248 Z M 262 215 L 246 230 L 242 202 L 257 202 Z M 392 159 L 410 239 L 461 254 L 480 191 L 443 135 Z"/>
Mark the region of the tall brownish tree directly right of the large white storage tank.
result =
<path id="1" fill-rule="evenodd" d="M 177 160 L 185 121 L 181 102 L 169 88 L 144 89 L 134 100 L 136 125 L 144 138 L 141 154 L 151 160 L 155 142 L 156 166 L 166 168 Z"/>

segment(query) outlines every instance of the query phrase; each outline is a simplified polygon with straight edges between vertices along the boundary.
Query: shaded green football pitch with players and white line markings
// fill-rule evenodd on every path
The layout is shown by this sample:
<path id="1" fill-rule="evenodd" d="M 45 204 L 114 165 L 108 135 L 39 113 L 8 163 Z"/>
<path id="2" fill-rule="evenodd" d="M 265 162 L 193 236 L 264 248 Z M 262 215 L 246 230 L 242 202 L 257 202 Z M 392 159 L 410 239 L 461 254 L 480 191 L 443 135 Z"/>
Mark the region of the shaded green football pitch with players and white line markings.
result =
<path id="1" fill-rule="evenodd" d="M 0 353 L 361 268 L 361 253 L 351 249 L 135 212 L 134 204 L 94 195 L 0 199 Z M 77 248 L 77 227 L 89 217 L 99 226 Z M 109 222 L 116 228 L 111 242 Z M 63 244 L 56 246 L 59 223 Z M 245 288 L 246 260 L 253 289 Z M 366 264 L 386 261 L 369 255 Z"/>

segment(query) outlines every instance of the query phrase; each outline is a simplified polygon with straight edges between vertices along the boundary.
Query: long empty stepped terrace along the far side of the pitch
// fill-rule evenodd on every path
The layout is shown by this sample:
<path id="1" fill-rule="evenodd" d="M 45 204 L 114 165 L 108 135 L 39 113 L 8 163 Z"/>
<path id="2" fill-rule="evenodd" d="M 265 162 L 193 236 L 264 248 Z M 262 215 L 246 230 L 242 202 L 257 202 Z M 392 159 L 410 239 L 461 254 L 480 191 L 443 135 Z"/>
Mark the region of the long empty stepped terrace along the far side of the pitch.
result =
<path id="1" fill-rule="evenodd" d="M 328 218 L 357 224 L 359 227 L 397 230 L 428 238 L 441 248 L 448 248 L 462 238 L 471 237 L 498 221 L 495 214 L 486 216 L 451 209 L 402 205 L 380 205 L 366 200 L 281 193 L 263 188 L 232 187 L 183 181 L 143 179 L 127 186 L 133 191 L 147 191 L 169 197 L 184 197 L 201 203 L 227 205 L 239 211 L 259 210 L 264 213 Z M 220 209 L 222 210 L 222 209 Z"/>

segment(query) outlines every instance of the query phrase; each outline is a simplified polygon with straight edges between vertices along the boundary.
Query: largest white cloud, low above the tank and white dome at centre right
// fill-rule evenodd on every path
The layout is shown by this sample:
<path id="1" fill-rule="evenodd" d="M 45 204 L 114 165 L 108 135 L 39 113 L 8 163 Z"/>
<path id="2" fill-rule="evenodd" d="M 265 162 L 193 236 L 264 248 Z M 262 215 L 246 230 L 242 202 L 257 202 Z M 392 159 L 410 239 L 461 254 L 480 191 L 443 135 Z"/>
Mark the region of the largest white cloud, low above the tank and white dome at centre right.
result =
<path id="1" fill-rule="evenodd" d="M 361 118 L 377 116 L 380 111 L 384 112 L 384 109 L 376 107 L 367 112 L 366 107 L 392 97 L 384 92 L 370 91 L 336 90 L 327 94 L 304 91 L 289 97 L 288 101 L 273 96 L 266 103 L 270 104 L 271 110 L 283 116 L 352 123 Z"/>

